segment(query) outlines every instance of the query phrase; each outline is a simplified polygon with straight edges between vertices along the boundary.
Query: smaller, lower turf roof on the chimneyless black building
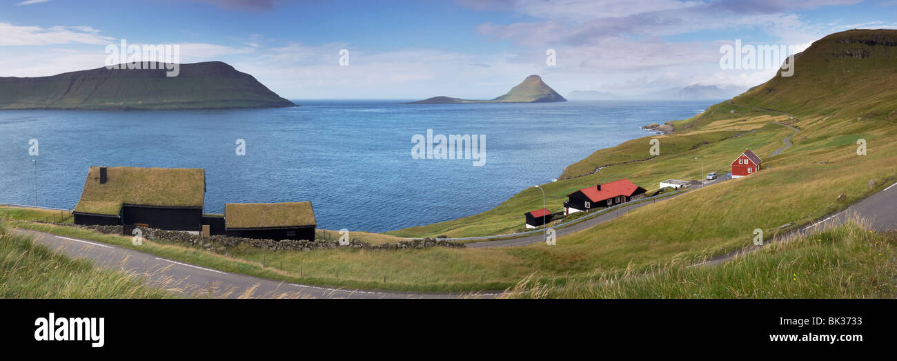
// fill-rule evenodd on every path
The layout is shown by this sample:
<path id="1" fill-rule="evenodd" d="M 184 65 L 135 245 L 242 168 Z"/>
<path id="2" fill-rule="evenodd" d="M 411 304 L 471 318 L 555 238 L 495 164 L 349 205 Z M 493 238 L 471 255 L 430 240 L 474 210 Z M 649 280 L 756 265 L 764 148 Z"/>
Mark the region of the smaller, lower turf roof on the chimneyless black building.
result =
<path id="1" fill-rule="evenodd" d="M 228 203 L 224 205 L 224 227 L 286 228 L 318 225 L 311 202 Z"/>

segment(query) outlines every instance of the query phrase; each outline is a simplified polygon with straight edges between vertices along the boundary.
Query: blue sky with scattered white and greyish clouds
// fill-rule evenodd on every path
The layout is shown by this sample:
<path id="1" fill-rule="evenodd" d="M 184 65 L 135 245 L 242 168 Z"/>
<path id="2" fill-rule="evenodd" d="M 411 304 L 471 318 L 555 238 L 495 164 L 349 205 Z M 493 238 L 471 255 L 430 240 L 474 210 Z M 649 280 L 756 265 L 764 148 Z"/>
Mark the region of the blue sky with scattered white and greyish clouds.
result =
<path id="1" fill-rule="evenodd" d="M 897 0 L 13 0 L 0 76 L 97 68 L 126 40 L 226 62 L 292 100 L 492 99 L 533 74 L 563 95 L 746 90 L 777 69 L 723 69 L 724 45 L 801 51 L 850 29 L 897 29 Z"/>

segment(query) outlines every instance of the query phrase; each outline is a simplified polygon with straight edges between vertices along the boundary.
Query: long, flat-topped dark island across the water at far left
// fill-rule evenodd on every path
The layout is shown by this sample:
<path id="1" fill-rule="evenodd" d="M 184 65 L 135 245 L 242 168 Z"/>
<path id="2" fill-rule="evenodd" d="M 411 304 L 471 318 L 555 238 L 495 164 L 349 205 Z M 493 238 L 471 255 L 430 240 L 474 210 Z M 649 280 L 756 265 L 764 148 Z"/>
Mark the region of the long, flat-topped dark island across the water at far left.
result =
<path id="1" fill-rule="evenodd" d="M 0 77 L 4 110 L 190 110 L 294 107 L 256 78 L 219 61 L 157 69 L 100 67 L 41 77 Z"/>

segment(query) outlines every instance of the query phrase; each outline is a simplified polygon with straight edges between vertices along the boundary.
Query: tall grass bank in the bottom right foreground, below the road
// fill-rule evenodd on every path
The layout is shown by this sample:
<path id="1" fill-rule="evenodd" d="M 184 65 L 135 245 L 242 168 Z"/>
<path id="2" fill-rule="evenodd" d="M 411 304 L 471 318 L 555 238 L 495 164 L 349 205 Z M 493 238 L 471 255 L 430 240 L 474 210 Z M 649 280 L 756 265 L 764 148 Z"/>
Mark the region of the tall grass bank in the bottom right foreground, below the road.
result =
<path id="1" fill-rule="evenodd" d="M 759 251 L 718 266 L 596 269 L 593 274 L 527 277 L 514 298 L 894 298 L 897 234 L 869 233 L 857 223 Z"/>

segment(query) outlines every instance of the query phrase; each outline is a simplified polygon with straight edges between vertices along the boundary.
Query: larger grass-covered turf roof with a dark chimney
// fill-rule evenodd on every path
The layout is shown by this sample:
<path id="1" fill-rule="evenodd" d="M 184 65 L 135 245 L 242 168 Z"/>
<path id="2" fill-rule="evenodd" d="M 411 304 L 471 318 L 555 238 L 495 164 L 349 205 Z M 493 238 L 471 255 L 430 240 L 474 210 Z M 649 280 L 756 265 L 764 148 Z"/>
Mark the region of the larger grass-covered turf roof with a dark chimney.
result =
<path id="1" fill-rule="evenodd" d="M 158 207 L 203 207 L 205 170 L 198 168 L 108 167 L 100 184 L 100 167 L 91 166 L 75 212 L 118 216 L 123 204 Z"/>

